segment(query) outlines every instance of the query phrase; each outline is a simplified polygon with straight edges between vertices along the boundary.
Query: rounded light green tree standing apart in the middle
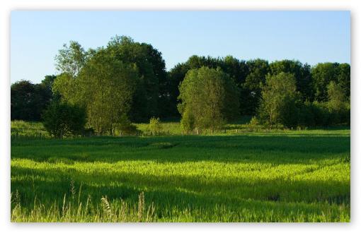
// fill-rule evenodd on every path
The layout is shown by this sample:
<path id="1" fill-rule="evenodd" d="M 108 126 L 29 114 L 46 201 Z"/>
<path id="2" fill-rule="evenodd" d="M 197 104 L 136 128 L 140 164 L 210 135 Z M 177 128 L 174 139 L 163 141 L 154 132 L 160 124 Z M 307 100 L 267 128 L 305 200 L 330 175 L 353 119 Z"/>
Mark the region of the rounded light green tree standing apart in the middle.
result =
<path id="1" fill-rule="evenodd" d="M 234 81 L 220 68 L 188 71 L 180 86 L 181 104 L 178 104 L 183 126 L 219 129 L 239 113 L 238 91 Z"/>

